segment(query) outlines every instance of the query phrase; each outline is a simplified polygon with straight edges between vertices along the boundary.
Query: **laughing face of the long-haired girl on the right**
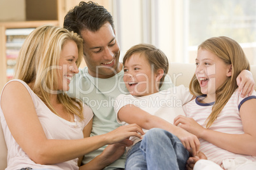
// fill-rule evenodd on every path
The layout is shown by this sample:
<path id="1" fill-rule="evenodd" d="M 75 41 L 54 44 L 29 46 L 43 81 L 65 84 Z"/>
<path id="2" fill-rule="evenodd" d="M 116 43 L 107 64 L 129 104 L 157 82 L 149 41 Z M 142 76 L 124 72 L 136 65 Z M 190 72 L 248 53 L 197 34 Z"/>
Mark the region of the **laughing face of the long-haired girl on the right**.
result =
<path id="1" fill-rule="evenodd" d="M 231 65 L 224 63 L 217 55 L 199 48 L 196 58 L 196 77 L 201 92 L 215 100 L 215 91 L 231 77 Z"/>

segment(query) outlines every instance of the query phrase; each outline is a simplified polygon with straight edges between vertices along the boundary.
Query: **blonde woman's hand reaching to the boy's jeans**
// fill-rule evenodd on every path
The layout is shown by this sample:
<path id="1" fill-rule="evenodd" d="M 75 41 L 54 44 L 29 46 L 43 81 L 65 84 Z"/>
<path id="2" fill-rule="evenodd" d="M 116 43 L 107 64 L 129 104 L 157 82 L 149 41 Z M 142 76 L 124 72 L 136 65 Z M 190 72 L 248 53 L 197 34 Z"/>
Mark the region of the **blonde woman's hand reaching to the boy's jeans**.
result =
<path id="1" fill-rule="evenodd" d="M 131 145 L 131 141 L 127 140 L 127 138 L 131 136 L 141 138 L 141 135 L 143 134 L 145 133 L 137 124 L 129 124 L 125 126 L 120 126 L 117 129 L 104 135 L 106 136 L 106 141 L 109 145 L 121 141 L 123 144 Z"/>

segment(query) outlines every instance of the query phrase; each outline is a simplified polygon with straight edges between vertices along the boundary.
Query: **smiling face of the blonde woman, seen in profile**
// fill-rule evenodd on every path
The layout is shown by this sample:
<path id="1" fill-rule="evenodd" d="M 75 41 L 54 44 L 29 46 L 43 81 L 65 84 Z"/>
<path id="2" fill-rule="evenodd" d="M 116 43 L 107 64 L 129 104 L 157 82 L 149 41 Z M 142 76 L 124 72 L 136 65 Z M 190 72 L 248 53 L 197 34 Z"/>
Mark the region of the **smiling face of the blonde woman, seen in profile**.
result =
<path id="1" fill-rule="evenodd" d="M 78 59 L 78 48 L 74 41 L 67 41 L 61 50 L 59 61 L 59 90 L 68 91 L 69 83 L 73 75 L 77 74 L 78 67 L 76 60 Z"/>

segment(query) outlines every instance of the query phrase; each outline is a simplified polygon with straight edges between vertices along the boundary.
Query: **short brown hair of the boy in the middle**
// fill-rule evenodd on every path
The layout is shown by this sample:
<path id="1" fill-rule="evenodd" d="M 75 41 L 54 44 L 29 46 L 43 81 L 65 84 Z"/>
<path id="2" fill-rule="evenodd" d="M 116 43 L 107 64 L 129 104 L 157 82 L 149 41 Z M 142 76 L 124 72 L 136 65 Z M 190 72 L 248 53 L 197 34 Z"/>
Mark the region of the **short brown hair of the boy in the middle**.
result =
<path id="1" fill-rule="evenodd" d="M 137 44 L 135 46 L 132 46 L 125 53 L 123 63 L 125 64 L 126 60 L 128 60 L 134 53 L 144 55 L 150 65 L 153 65 L 154 72 L 157 72 L 158 69 L 164 70 L 164 75 L 160 79 L 160 88 L 162 86 L 162 82 L 164 82 L 164 77 L 166 76 L 169 69 L 169 63 L 166 55 L 160 49 L 156 48 L 151 44 Z"/>

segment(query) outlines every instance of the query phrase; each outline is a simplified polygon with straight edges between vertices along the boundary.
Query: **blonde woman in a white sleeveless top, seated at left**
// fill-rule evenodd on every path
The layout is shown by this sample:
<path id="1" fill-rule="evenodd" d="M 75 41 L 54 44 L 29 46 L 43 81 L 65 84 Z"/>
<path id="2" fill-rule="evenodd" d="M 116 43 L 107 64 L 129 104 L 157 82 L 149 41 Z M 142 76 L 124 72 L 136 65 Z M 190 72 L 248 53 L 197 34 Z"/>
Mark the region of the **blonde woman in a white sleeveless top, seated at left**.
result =
<path id="1" fill-rule="evenodd" d="M 6 169 L 78 169 L 78 157 L 109 145 L 81 169 L 103 169 L 141 137 L 136 124 L 90 137 L 92 110 L 65 91 L 78 73 L 83 41 L 73 32 L 45 25 L 25 40 L 15 79 L 1 93 L 1 124 L 8 147 Z M 122 141 L 122 143 L 118 143 Z"/>

